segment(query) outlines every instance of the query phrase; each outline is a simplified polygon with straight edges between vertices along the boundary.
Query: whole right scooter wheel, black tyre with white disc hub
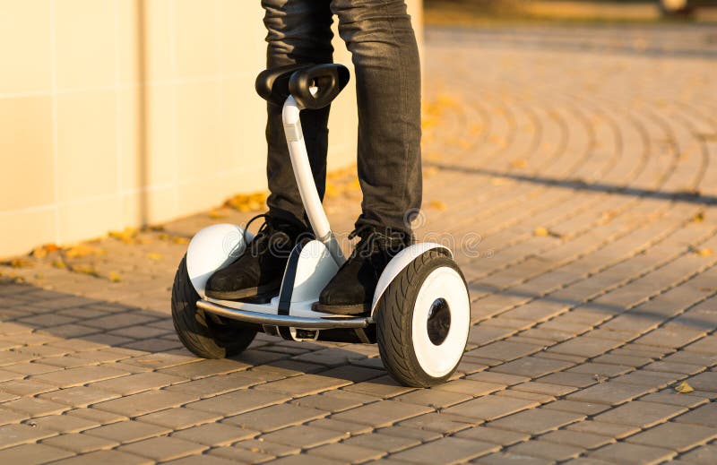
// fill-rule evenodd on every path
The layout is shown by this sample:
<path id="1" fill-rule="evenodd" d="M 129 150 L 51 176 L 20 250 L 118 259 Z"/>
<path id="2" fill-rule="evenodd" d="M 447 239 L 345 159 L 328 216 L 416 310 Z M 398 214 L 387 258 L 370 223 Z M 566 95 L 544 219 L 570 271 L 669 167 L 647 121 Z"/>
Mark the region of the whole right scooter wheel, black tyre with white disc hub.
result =
<path id="1" fill-rule="evenodd" d="M 396 381 L 444 383 L 461 361 L 471 326 L 461 270 L 436 249 L 419 255 L 385 289 L 374 320 L 381 359 Z"/>

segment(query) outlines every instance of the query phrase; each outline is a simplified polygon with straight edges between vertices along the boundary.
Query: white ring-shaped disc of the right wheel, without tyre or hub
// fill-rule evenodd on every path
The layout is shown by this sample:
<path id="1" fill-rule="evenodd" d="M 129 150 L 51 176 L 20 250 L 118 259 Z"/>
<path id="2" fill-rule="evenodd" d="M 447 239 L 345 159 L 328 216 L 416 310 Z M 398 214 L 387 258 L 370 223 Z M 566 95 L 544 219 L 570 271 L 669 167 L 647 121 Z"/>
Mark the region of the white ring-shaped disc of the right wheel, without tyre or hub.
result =
<path id="1" fill-rule="evenodd" d="M 445 301 L 450 311 L 450 326 L 439 345 L 428 336 L 428 317 L 436 301 Z M 460 274 L 442 266 L 428 274 L 419 289 L 413 306 L 413 351 L 427 375 L 439 378 L 454 369 L 463 355 L 471 325 L 471 304 L 468 290 Z"/>

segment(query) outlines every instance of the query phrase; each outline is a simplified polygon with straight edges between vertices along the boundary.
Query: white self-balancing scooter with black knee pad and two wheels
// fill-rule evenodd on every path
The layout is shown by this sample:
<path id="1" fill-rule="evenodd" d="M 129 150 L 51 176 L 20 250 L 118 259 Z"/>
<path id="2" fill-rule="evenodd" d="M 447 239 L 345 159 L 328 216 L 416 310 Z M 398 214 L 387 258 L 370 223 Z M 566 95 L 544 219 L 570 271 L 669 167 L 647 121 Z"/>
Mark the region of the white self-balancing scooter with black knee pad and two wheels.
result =
<path id="1" fill-rule="evenodd" d="M 461 361 L 471 322 L 468 288 L 445 246 L 419 243 L 395 255 L 378 280 L 368 314 L 312 309 L 345 258 L 316 192 L 299 112 L 328 106 L 349 78 L 342 65 L 290 65 L 258 76 L 259 95 L 283 105 L 291 165 L 316 238 L 293 249 L 279 295 L 268 302 L 216 300 L 204 293 L 207 280 L 234 262 L 252 235 L 230 224 L 203 228 L 175 277 L 175 328 L 186 349 L 205 358 L 238 355 L 256 332 L 287 340 L 378 343 L 385 368 L 399 383 L 443 383 Z"/>

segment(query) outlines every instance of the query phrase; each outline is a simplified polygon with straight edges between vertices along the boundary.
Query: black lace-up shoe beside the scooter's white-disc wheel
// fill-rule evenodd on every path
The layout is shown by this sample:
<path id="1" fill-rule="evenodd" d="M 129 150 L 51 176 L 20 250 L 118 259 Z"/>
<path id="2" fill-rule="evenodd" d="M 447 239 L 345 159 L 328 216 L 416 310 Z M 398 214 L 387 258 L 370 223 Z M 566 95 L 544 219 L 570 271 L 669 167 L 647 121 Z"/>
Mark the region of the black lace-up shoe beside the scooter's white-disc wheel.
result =
<path id="1" fill-rule="evenodd" d="M 361 237 L 349 260 L 321 291 L 313 306 L 316 312 L 365 314 L 371 310 L 376 284 L 391 259 L 411 244 L 413 237 L 403 232 L 363 226 L 349 238 Z"/>

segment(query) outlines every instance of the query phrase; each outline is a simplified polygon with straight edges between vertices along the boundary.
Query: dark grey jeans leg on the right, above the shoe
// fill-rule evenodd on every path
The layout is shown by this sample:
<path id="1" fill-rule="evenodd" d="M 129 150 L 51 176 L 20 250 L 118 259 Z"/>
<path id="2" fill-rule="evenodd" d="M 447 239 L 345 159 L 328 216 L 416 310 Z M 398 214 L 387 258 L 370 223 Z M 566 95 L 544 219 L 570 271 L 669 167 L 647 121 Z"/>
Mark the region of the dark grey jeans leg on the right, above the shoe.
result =
<path id="1" fill-rule="evenodd" d="M 356 69 L 357 227 L 410 232 L 421 202 L 420 64 L 404 0 L 333 0 Z"/>

